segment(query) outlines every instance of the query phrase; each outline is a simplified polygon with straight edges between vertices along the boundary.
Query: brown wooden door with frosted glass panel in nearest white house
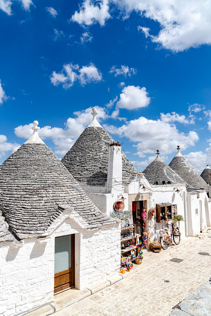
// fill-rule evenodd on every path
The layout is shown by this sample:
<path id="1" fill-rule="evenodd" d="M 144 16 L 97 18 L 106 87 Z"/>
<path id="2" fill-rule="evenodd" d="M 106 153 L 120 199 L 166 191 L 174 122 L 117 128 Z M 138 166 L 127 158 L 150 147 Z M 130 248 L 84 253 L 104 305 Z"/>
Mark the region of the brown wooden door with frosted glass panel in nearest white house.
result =
<path id="1" fill-rule="evenodd" d="M 55 238 L 54 294 L 75 285 L 75 235 Z"/>

